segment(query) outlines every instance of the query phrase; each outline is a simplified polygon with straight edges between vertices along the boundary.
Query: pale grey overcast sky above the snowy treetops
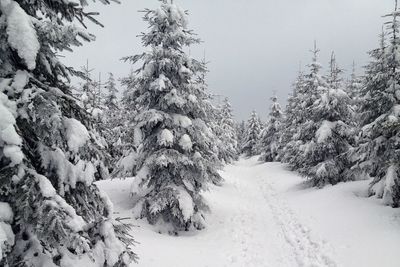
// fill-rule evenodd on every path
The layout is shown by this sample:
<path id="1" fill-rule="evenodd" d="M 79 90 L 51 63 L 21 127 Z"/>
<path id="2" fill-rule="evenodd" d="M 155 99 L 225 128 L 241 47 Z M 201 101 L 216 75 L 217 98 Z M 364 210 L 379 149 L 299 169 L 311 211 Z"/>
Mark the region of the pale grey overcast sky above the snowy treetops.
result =
<path id="1" fill-rule="evenodd" d="M 79 67 L 89 59 L 105 76 L 126 76 L 131 69 L 120 58 L 143 51 L 137 35 L 146 31 L 142 14 L 156 0 L 121 0 L 122 4 L 89 6 L 105 25 L 89 25 L 97 41 L 76 48 L 65 62 Z M 299 63 L 309 63 L 317 40 L 320 62 L 327 66 L 332 50 L 339 65 L 351 69 L 368 62 L 367 51 L 377 47 L 382 15 L 394 0 L 175 0 L 189 10 L 189 27 L 203 43 L 191 49 L 210 61 L 208 84 L 215 94 L 230 98 L 237 119 L 255 109 L 264 118 L 276 91 L 285 103 Z M 324 69 L 326 71 L 326 68 Z"/>

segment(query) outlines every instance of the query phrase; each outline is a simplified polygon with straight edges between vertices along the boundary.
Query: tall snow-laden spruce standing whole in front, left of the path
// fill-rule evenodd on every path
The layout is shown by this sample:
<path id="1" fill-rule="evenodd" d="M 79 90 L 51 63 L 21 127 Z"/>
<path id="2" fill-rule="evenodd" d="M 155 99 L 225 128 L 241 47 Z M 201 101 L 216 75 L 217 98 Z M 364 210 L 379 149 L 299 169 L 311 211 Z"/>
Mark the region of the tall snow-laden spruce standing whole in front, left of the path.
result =
<path id="1" fill-rule="evenodd" d="M 211 106 L 196 82 L 205 66 L 183 52 L 198 43 L 187 28 L 187 12 L 169 1 L 145 10 L 148 52 L 127 57 L 143 65 L 129 84 L 139 107 L 135 118 L 137 175 L 132 194 L 140 217 L 163 224 L 171 233 L 204 228 L 207 206 L 201 191 L 221 179 L 213 158 L 213 132 L 207 127 Z"/>

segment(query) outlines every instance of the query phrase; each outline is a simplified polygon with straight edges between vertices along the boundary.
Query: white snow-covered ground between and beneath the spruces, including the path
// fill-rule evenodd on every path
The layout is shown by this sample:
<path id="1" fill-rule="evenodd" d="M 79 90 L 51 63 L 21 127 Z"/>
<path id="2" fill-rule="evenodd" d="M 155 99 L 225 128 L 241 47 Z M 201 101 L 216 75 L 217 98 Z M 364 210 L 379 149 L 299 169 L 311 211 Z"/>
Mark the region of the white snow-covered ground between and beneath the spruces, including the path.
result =
<path id="1" fill-rule="evenodd" d="M 133 235 L 145 267 L 399 266 L 400 210 L 365 198 L 368 181 L 324 189 L 279 163 L 241 159 L 205 194 L 207 229 L 169 236 L 145 221 Z M 132 180 L 99 182 L 117 217 L 132 215 Z"/>

